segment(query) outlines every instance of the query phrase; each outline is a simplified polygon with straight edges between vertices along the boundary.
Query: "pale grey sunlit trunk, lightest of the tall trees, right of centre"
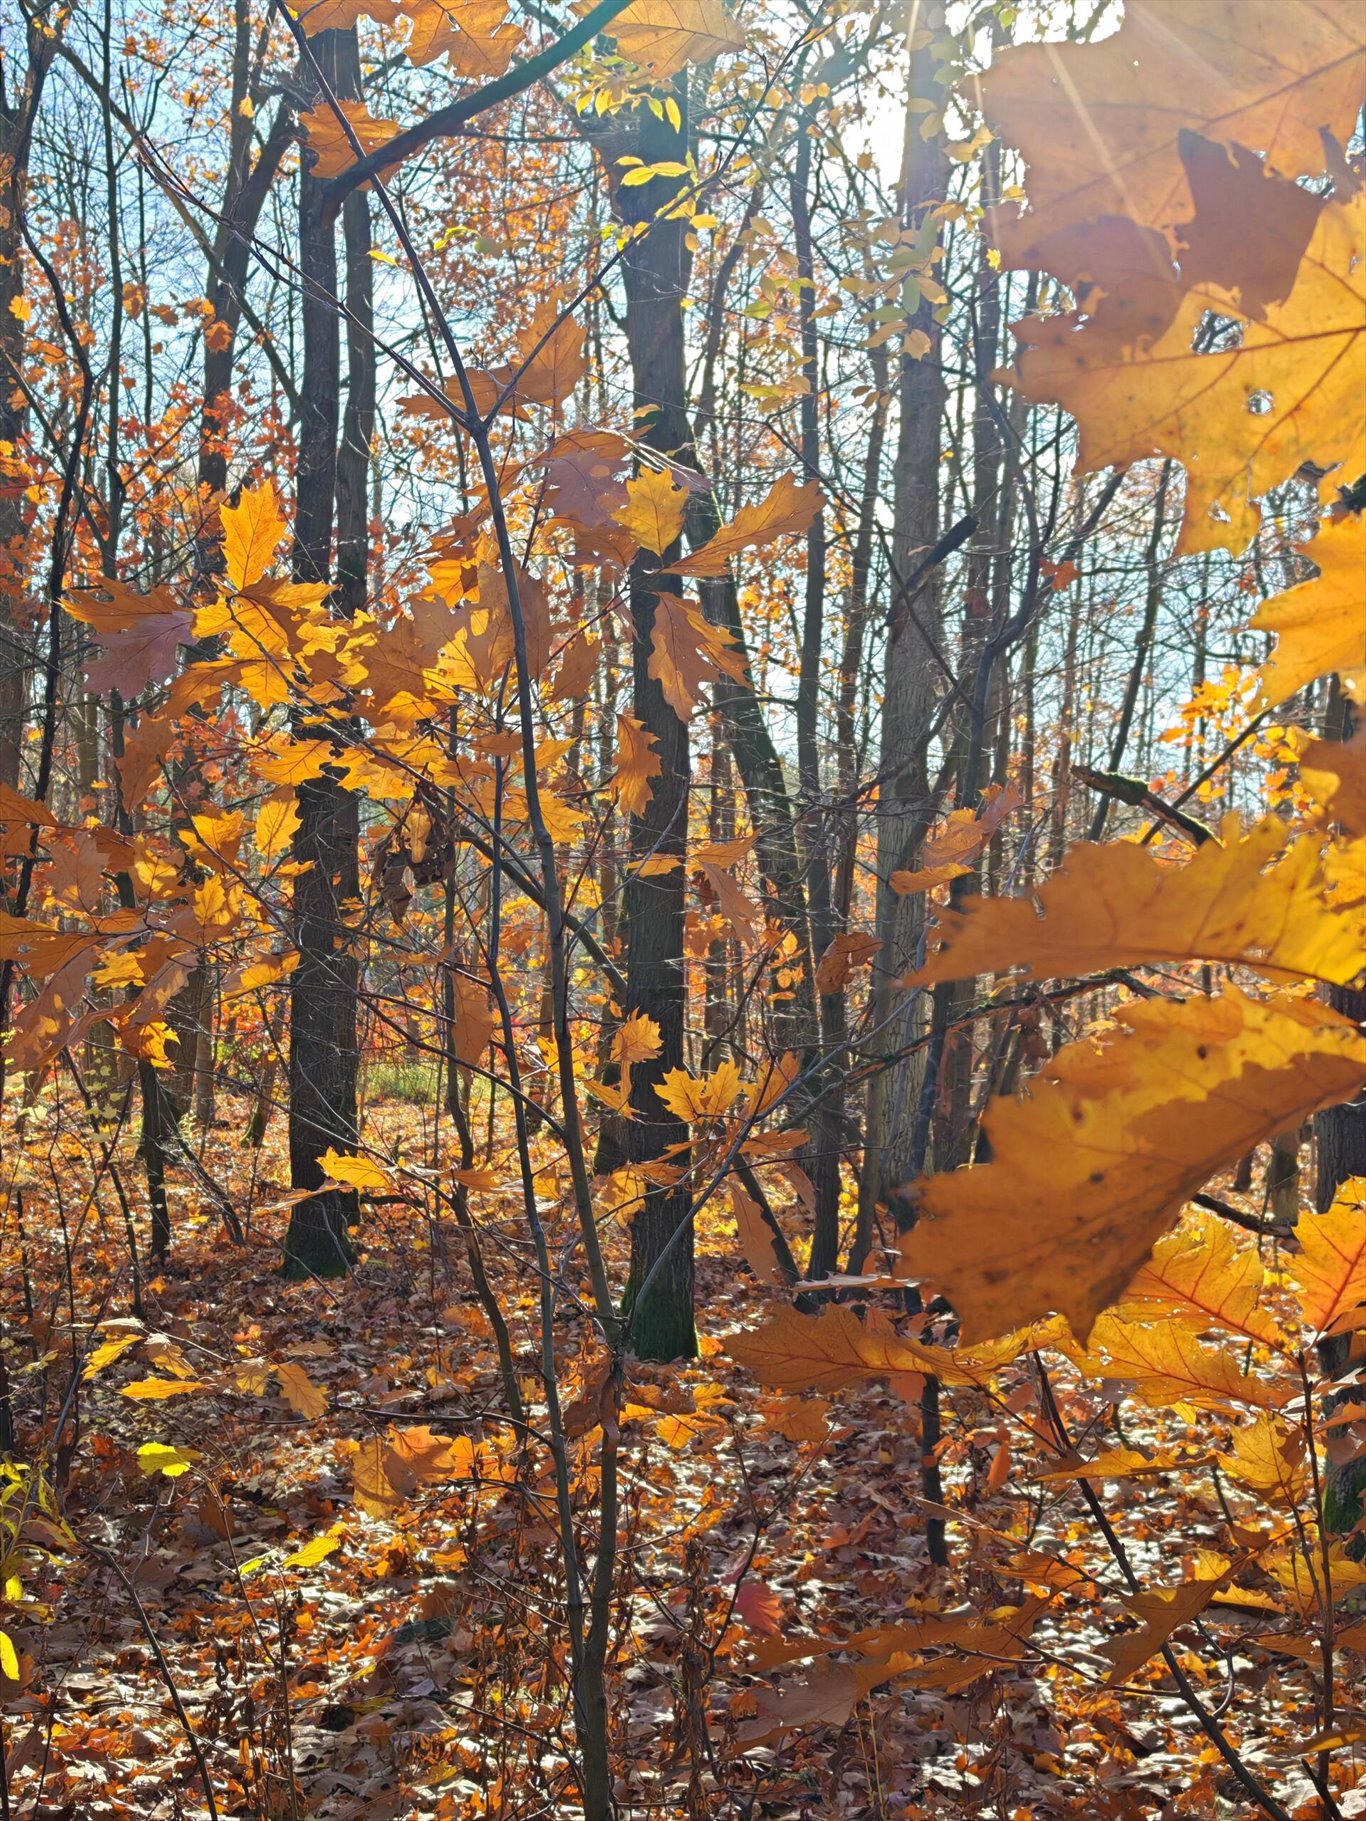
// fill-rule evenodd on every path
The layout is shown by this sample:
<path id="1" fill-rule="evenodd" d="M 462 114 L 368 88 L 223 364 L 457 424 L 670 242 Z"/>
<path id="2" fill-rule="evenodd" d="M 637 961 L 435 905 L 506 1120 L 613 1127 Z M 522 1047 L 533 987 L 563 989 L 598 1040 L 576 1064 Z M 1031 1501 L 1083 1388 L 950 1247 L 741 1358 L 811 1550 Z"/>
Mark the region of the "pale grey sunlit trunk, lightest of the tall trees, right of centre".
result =
<path id="1" fill-rule="evenodd" d="M 927 209 L 943 197 L 949 175 L 942 137 L 922 138 L 923 109 L 918 106 L 931 102 L 938 109 L 943 100 L 942 64 L 931 56 L 929 47 L 929 40 L 942 29 L 942 0 L 931 0 L 918 9 L 907 84 L 900 215 L 903 226 L 911 228 L 918 228 Z M 902 353 L 898 375 L 900 424 L 892 473 L 894 574 L 889 577 L 892 605 L 887 625 L 878 770 L 876 934 L 882 951 L 872 961 L 876 978 L 872 1043 L 880 1053 L 902 1049 L 923 1023 L 920 994 L 905 992 L 898 985 L 914 967 L 923 931 L 923 896 L 898 898 L 889 880 L 900 867 L 914 865 L 931 814 L 927 739 L 940 683 L 925 637 L 925 634 L 938 637 L 940 630 L 938 570 L 911 590 L 900 588 L 940 532 L 940 421 L 945 399 L 940 370 L 942 331 L 923 302 L 911 328 L 929 337 L 929 350 L 920 361 Z M 894 1195 L 907 1178 L 922 1076 L 920 1058 L 909 1056 L 872 1078 L 860 1182 L 860 1200 L 867 1204 L 865 1222 L 871 1220 L 872 1206 Z"/>

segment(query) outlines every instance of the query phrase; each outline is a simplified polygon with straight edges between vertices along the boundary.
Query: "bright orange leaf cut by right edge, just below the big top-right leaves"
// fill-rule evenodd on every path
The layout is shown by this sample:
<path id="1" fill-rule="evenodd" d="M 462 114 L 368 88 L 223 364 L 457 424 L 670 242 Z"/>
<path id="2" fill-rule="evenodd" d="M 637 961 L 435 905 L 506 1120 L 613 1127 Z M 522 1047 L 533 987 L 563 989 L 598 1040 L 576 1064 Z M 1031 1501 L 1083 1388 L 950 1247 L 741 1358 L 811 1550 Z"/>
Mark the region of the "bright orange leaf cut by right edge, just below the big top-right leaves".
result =
<path id="1" fill-rule="evenodd" d="M 1348 514 L 1297 548 L 1319 574 L 1264 601 L 1249 621 L 1253 632 L 1277 634 L 1257 672 L 1262 696 L 1268 705 L 1284 701 L 1331 672 L 1366 696 L 1366 517 Z"/>

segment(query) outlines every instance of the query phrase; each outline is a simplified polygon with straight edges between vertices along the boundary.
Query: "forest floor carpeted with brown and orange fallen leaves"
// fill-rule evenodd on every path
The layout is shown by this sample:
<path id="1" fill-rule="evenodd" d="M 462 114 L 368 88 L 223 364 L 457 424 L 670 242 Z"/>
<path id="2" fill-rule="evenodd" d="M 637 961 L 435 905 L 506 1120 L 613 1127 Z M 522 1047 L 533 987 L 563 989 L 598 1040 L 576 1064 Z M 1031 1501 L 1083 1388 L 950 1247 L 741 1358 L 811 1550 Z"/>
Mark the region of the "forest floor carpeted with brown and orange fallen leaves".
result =
<path id="1" fill-rule="evenodd" d="M 372 1122 L 395 1155 L 419 1155 L 421 1111 L 379 1107 Z M 144 1282 L 140 1322 L 109 1182 L 98 1206 L 80 1187 L 97 1158 L 53 1140 L 38 1160 L 29 1144 L 24 1244 L 11 1226 L 0 1278 L 20 1459 L 66 1422 L 49 1457 L 56 1510 L 42 1517 L 33 1480 L 16 1495 L 38 1548 L 18 1561 L 24 1601 L 4 1621 L 20 1650 L 20 1686 L 4 1684 L 5 1812 L 572 1814 L 556 1799 L 565 1643 L 548 1457 L 537 1446 L 519 1473 L 459 1236 L 382 1206 L 366 1213 L 348 1282 L 286 1284 L 284 1164 L 239 1131 L 217 1127 L 204 1160 L 237 1206 L 255 1200 L 248 1244 L 229 1246 L 202 1189 L 180 1182 L 173 1258 Z M 131 1138 L 117 1156 L 131 1195 Z M 534 1406 L 534 1275 L 519 1251 L 494 1255 L 499 1191 L 474 1209 Z M 949 1653 L 851 1692 L 849 1672 L 818 1655 L 774 1697 L 769 1672 L 800 1639 L 829 1650 L 863 1628 L 1018 1601 L 1022 1582 L 1002 1581 L 974 1537 L 1024 1524 L 1031 1548 L 1102 1590 L 1115 1570 L 1073 1482 L 1040 1482 L 1020 1453 L 1002 1468 L 1000 1411 L 976 1393 L 945 1409 L 945 1499 L 960 1519 L 951 1564 L 931 1566 L 918 1386 L 831 1400 L 756 1388 L 725 1340 L 754 1326 L 763 1293 L 729 1218 L 708 1213 L 698 1238 L 701 1357 L 628 1377 L 612 1701 L 623 1816 L 1253 1812 L 1160 1673 L 1138 1699 L 1104 1686 L 1104 1633 L 1065 1601 L 1018 1661 L 963 1670 Z M 625 1233 L 612 1244 L 619 1280 Z M 574 1311 L 559 1357 L 592 1539 L 594 1346 Z M 1122 1422 L 1127 1446 L 1218 1440 L 1195 1411 L 1167 1429 L 1147 1411 Z M 1166 1557 L 1171 1579 L 1224 1535 L 1217 1495 L 1217 1480 L 1188 1473 L 1122 1482 L 1107 1502 L 1135 1561 Z M 0 1510 L 13 1517 L 13 1501 Z M 1211 1704 L 1237 1677 L 1246 1759 L 1317 1814 L 1284 1746 L 1306 1730 L 1302 1666 L 1255 1644 L 1259 1621 L 1220 1613 L 1224 1661 L 1209 1648 L 1182 1661 Z M 1366 1783 L 1341 1812 L 1366 1814 Z"/>

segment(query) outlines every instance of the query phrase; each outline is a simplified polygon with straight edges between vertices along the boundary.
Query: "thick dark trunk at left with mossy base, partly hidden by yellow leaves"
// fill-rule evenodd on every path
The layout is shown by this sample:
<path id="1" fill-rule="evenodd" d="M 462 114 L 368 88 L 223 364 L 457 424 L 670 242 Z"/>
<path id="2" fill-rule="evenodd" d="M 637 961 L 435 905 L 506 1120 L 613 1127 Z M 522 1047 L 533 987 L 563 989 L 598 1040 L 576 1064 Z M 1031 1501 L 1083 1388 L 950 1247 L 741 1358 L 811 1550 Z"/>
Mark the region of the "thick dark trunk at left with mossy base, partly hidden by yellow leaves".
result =
<path id="1" fill-rule="evenodd" d="M 357 98 L 359 53 L 355 27 L 324 31 L 311 40 L 322 76 L 333 95 Z M 299 468 L 293 572 L 299 581 L 331 577 L 333 508 L 339 481 L 348 486 L 339 539 L 341 586 L 337 606 L 355 603 L 355 512 L 357 452 L 341 463 L 337 453 L 341 415 L 341 355 L 337 337 L 337 246 L 333 224 L 322 213 L 324 184 L 304 171 L 299 178 L 299 244 L 302 293 L 304 379 L 301 386 Z M 366 204 L 364 191 L 357 200 Z M 348 206 L 350 208 L 350 206 Z M 352 242 L 359 229 L 348 213 L 348 306 L 364 310 L 370 273 L 355 291 Z M 368 248 L 368 228 L 364 233 Z M 364 260 L 368 266 L 368 259 Z M 355 359 L 359 331 L 348 335 Z M 364 377 L 352 370 L 352 388 Z M 373 392 L 372 392 L 373 410 Z M 348 432 L 357 410 L 348 393 Z M 368 457 L 368 437 L 366 437 Z M 364 517 L 364 461 L 361 461 L 359 510 Z M 359 574 L 364 597 L 364 559 Z M 357 799 L 337 776 L 324 770 L 299 787 L 299 830 L 293 858 L 306 870 L 295 883 L 295 943 L 299 965 L 290 992 L 290 1184 L 313 1189 L 295 1204 L 284 1240 L 284 1267 L 291 1277 L 342 1277 L 353 1249 L 348 1227 L 357 1218 L 350 1189 L 324 1189 L 319 1158 L 330 1147 L 353 1151 L 357 1129 L 357 1020 L 359 965 L 355 940 L 346 927 L 348 905 L 359 901 Z"/>

